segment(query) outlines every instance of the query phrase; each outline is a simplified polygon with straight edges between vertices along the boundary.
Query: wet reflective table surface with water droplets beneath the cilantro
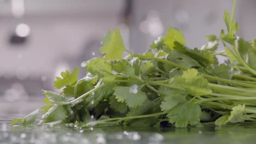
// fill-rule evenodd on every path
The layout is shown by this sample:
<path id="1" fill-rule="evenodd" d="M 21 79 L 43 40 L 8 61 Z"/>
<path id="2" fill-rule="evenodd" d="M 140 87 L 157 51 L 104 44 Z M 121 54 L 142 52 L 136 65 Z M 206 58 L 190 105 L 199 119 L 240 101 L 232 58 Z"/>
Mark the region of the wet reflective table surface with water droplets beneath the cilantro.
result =
<path id="1" fill-rule="evenodd" d="M 254 143 L 256 123 L 197 128 L 69 128 L 11 126 L 0 121 L 0 143 Z"/>

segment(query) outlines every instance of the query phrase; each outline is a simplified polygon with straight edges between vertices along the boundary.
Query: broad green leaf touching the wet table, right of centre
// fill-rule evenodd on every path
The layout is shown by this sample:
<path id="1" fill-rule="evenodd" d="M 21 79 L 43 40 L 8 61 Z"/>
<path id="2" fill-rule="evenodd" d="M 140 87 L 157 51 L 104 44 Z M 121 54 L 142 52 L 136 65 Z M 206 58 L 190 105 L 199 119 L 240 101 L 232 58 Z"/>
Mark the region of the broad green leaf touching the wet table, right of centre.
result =
<path id="1" fill-rule="evenodd" d="M 174 107 L 166 116 L 170 123 L 175 123 L 176 128 L 197 125 L 200 123 L 201 107 L 186 101 Z"/>

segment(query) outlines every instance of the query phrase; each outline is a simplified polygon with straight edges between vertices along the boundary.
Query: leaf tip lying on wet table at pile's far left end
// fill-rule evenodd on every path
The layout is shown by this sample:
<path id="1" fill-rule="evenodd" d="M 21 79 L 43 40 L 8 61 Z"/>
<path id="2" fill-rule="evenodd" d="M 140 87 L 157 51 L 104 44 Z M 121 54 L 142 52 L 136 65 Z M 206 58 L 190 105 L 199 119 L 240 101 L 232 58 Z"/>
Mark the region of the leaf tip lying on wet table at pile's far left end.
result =
<path id="1" fill-rule="evenodd" d="M 11 124 L 22 123 L 22 125 L 24 125 L 24 126 L 34 124 L 36 122 L 38 112 L 39 112 L 39 110 L 37 109 L 37 110 L 31 112 L 29 115 L 27 115 L 24 118 L 21 118 L 21 119 L 14 118 L 13 121 L 11 121 Z"/>

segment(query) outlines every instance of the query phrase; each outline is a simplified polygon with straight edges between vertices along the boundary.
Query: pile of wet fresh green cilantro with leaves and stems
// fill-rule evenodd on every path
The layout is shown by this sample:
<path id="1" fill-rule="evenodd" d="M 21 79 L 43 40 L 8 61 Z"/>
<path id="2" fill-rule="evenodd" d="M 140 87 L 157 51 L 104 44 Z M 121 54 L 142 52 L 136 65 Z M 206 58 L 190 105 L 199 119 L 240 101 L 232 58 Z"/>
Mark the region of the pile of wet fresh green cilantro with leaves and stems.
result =
<path id="1" fill-rule="evenodd" d="M 227 31 L 207 35 L 202 49 L 189 49 L 181 31 L 170 28 L 143 54 L 125 49 L 119 29 L 102 41 L 104 57 L 83 62 L 56 77 L 61 93 L 44 91 L 45 106 L 11 124 L 67 124 L 82 127 L 121 125 L 183 128 L 256 121 L 256 40 L 237 37 L 238 24 L 225 11 Z M 218 50 L 219 42 L 225 47 Z M 123 59 L 123 52 L 129 55 Z M 220 64 L 216 56 L 228 58 Z"/>

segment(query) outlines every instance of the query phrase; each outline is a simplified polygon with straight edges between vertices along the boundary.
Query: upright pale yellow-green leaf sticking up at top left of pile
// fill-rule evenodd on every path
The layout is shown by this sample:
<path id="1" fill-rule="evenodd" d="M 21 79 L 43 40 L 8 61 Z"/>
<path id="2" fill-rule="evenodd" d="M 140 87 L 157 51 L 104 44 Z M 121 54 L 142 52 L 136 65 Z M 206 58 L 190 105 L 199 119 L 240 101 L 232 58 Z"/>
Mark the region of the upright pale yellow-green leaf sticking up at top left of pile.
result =
<path id="1" fill-rule="evenodd" d="M 102 54 L 106 54 L 106 59 L 123 58 L 125 46 L 119 28 L 117 28 L 115 31 L 108 31 L 108 33 L 103 37 L 100 51 Z"/>

